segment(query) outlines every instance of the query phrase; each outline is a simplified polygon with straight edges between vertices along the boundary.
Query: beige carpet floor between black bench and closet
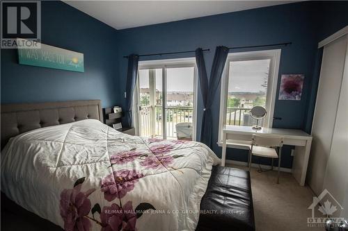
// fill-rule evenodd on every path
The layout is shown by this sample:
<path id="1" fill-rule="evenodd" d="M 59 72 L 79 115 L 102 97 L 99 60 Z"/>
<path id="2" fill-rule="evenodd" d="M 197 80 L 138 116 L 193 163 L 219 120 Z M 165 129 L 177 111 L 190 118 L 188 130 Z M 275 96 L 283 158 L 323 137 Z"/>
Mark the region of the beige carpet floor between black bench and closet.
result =
<path id="1" fill-rule="evenodd" d="M 247 169 L 244 166 L 227 166 Z M 307 226 L 311 216 L 308 206 L 313 202 L 313 191 L 301 187 L 291 173 L 280 172 L 280 184 L 276 184 L 276 171 L 258 173 L 251 169 L 251 190 L 257 231 L 263 230 L 325 230 Z"/>

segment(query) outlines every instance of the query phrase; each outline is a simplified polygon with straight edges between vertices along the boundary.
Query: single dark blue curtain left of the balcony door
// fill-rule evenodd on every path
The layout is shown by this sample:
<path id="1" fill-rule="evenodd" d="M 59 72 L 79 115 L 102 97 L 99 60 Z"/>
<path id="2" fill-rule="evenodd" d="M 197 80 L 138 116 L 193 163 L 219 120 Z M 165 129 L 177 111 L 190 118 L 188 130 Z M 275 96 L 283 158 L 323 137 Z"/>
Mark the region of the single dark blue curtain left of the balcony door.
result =
<path id="1" fill-rule="evenodd" d="M 136 83 L 136 76 L 138 75 L 139 55 L 128 55 L 128 69 L 127 69 L 127 86 L 126 86 L 126 110 L 125 110 L 125 128 L 132 126 L 132 103 L 133 92 Z"/>

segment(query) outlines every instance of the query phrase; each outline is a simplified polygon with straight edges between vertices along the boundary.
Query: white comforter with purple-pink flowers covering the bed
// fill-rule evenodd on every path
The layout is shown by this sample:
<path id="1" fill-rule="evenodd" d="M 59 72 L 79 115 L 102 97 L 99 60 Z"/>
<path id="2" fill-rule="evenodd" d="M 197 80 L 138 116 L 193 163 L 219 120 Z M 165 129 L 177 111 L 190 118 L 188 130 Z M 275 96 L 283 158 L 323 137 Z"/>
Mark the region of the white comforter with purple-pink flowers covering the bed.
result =
<path id="1" fill-rule="evenodd" d="M 204 144 L 133 137 L 87 119 L 10 139 L 1 190 L 65 230 L 194 230 L 218 163 Z"/>

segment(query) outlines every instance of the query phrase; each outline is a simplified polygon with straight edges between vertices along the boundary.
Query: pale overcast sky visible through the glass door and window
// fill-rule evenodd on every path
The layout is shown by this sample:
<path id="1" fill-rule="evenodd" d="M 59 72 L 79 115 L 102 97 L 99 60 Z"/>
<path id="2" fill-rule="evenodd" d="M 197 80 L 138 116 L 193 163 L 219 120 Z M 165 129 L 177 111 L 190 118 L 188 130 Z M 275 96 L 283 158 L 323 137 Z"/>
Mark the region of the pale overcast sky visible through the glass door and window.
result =
<path id="1" fill-rule="evenodd" d="M 267 80 L 270 60 L 230 62 L 228 92 L 260 92 Z M 193 67 L 167 68 L 167 92 L 193 92 Z M 162 70 L 156 69 L 156 89 L 162 90 Z M 141 88 L 149 87 L 149 71 L 139 71 Z"/>

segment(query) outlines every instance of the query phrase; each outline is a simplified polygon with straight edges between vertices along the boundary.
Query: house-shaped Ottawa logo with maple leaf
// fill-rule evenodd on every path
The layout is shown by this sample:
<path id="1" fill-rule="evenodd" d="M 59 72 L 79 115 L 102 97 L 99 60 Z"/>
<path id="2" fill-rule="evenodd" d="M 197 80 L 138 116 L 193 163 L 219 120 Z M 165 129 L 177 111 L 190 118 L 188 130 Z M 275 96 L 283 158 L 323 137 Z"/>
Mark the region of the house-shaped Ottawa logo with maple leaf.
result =
<path id="1" fill-rule="evenodd" d="M 312 216 L 307 218 L 308 227 L 325 227 L 326 221 L 340 223 L 345 220 L 340 217 L 340 212 L 343 210 L 342 205 L 327 189 L 324 189 L 318 197 L 313 196 L 313 203 L 308 209 L 312 209 Z"/>

